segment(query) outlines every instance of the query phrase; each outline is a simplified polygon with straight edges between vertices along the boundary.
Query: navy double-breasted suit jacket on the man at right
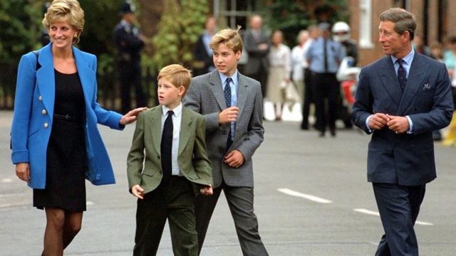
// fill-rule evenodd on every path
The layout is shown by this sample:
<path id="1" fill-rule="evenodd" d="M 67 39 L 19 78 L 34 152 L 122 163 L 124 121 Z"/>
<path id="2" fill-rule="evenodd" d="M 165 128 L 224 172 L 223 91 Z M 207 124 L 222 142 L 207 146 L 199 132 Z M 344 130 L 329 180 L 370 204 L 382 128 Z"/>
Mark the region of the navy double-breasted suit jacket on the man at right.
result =
<path id="1" fill-rule="evenodd" d="M 352 120 L 370 133 L 374 113 L 408 115 L 413 134 L 374 130 L 368 146 L 368 181 L 418 186 L 436 178 L 432 131 L 452 117 L 450 79 L 445 65 L 415 52 L 405 90 L 400 90 L 390 56 L 361 70 Z"/>

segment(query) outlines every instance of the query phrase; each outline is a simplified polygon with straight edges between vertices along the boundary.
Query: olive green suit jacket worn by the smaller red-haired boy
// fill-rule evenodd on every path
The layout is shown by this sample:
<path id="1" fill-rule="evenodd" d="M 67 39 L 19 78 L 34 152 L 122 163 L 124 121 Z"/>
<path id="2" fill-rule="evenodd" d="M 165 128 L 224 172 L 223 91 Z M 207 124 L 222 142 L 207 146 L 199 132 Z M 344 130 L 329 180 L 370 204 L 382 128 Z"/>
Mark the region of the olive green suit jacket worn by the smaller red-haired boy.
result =
<path id="1" fill-rule="evenodd" d="M 161 125 L 161 105 L 139 114 L 127 159 L 129 189 L 140 185 L 144 193 L 147 193 L 160 185 L 163 176 L 160 159 Z M 177 164 L 185 178 L 206 186 L 212 184 L 212 173 L 204 130 L 204 117 L 183 107 Z"/>

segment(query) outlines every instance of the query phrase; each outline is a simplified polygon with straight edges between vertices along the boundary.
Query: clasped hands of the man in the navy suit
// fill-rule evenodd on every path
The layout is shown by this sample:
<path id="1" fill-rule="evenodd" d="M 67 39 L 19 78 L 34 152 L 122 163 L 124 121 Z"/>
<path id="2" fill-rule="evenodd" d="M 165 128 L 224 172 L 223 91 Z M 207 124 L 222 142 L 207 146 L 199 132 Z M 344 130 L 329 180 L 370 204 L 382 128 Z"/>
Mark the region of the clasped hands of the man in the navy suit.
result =
<path id="1" fill-rule="evenodd" d="M 407 132 L 410 127 L 407 117 L 392 116 L 390 114 L 376 113 L 369 119 L 371 129 L 383 129 L 388 127 L 396 134 Z"/>

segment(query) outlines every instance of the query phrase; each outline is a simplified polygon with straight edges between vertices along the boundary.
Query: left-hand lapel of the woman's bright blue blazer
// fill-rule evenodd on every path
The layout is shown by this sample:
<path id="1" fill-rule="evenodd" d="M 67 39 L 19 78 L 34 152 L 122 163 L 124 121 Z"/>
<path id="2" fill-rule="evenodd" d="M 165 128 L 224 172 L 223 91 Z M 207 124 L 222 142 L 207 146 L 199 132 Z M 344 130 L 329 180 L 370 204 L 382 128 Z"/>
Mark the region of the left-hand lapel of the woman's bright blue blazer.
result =
<path id="1" fill-rule="evenodd" d="M 49 43 L 43 49 L 39 50 L 38 63 L 40 63 L 41 68 L 36 71 L 36 86 L 38 86 L 40 95 L 45 95 L 42 97 L 43 105 L 52 117 L 54 113 L 54 100 L 56 98 L 56 79 L 51 46 L 52 44 Z"/>

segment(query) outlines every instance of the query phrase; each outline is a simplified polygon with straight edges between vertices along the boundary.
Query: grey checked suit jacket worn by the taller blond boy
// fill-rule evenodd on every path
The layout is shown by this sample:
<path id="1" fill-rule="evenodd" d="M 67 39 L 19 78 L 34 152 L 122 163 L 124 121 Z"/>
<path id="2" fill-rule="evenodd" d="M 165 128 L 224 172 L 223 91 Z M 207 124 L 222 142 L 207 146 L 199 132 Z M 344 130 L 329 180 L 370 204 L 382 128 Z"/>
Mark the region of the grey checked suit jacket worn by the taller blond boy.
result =
<path id="1" fill-rule="evenodd" d="M 192 78 L 184 105 L 204 115 L 206 119 L 206 144 L 209 160 L 212 163 L 214 187 L 222 181 L 229 186 L 254 187 L 252 155 L 263 142 L 263 97 L 257 80 L 239 73 L 237 107 L 239 115 L 234 132 L 234 140 L 227 149 L 230 124 L 219 125 L 219 112 L 227 108 L 222 81 L 217 70 Z M 239 168 L 224 164 L 227 151 L 239 150 L 245 162 Z"/>

